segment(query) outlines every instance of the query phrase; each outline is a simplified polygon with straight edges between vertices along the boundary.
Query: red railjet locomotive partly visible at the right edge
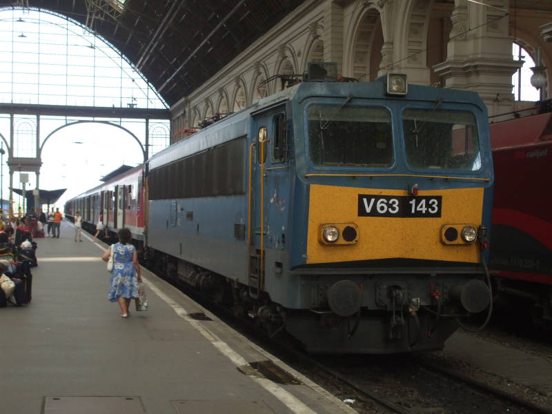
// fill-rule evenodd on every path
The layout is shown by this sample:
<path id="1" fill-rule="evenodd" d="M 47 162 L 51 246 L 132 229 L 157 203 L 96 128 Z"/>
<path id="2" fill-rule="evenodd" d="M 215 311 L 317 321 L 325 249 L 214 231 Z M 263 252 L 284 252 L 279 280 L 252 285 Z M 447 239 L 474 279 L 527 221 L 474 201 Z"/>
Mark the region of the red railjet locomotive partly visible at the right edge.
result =
<path id="1" fill-rule="evenodd" d="M 491 124 L 491 264 L 498 293 L 552 320 L 552 113 Z"/>

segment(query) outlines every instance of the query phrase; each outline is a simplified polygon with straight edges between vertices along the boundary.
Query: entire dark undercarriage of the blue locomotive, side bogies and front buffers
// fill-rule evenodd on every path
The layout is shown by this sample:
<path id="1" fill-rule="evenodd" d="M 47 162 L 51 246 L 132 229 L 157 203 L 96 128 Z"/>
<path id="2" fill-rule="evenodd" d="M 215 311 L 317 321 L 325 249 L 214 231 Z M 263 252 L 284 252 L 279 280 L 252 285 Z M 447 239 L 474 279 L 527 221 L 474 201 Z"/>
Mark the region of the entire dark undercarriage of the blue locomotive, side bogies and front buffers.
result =
<path id="1" fill-rule="evenodd" d="M 489 289 L 477 274 L 301 275 L 299 296 L 310 308 L 252 297 L 245 284 L 155 251 L 150 268 L 193 286 L 271 337 L 286 331 L 313 353 L 397 353 L 441 349 L 458 320 L 484 311 Z M 299 291 L 299 290 L 298 290 Z"/>

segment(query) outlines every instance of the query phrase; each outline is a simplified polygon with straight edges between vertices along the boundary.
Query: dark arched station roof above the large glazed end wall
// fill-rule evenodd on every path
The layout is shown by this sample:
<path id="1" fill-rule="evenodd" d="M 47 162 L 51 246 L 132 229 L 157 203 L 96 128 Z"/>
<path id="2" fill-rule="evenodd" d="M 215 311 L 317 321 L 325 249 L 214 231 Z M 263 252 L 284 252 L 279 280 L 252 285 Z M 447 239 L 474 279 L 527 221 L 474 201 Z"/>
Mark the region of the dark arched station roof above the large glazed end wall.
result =
<path id="1" fill-rule="evenodd" d="M 305 0 L 0 0 L 86 25 L 172 106 Z"/>

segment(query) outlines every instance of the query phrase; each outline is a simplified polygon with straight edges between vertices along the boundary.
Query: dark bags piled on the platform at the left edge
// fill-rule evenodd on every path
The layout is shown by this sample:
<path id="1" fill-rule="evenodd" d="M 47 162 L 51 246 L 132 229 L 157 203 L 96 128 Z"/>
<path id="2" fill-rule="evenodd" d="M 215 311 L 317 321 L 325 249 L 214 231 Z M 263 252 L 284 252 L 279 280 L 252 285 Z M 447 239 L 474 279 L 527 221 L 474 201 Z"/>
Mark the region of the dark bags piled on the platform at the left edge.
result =
<path id="1" fill-rule="evenodd" d="M 30 304 L 32 300 L 32 273 L 30 261 L 8 262 L 0 260 L 0 308 L 8 303 L 16 306 Z"/>

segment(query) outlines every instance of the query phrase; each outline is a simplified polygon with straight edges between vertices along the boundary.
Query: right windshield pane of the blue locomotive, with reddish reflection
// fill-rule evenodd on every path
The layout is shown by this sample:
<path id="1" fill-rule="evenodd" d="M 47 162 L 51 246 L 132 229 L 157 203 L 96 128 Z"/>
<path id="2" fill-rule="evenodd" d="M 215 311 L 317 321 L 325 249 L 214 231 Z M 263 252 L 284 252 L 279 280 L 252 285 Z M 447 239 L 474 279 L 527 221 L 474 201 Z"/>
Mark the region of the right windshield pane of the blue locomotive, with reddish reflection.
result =
<path id="1" fill-rule="evenodd" d="M 471 112 L 406 109 L 403 130 L 406 159 L 413 168 L 481 168 L 477 124 Z"/>

